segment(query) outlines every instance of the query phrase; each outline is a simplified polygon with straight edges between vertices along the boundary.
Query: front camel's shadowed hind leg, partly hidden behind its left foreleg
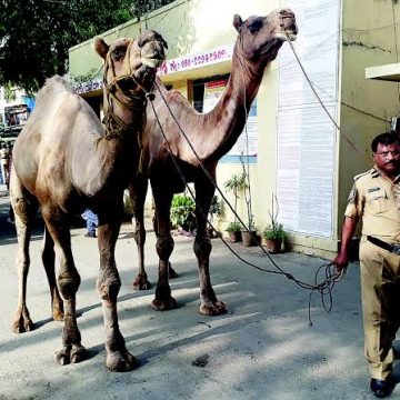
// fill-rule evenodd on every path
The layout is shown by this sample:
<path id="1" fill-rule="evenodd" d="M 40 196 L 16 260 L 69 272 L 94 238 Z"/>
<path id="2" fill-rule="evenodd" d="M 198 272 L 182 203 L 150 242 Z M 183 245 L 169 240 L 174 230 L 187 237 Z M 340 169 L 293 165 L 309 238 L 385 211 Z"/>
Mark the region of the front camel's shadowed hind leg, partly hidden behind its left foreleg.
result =
<path id="1" fill-rule="evenodd" d="M 42 247 L 42 262 L 44 266 L 46 274 L 49 281 L 50 294 L 51 294 L 51 313 L 54 321 L 63 320 L 63 303 L 56 282 L 54 271 L 54 242 L 44 228 L 43 247 Z"/>

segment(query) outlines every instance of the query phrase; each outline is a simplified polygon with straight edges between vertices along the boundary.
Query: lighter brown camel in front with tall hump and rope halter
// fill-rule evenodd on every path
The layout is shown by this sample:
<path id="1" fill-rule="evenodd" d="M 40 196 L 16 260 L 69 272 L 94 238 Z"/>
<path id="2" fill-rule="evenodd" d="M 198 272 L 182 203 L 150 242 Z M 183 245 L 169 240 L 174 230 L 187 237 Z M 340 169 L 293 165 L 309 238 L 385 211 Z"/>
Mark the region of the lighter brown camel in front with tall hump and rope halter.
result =
<path id="1" fill-rule="evenodd" d="M 97 289 L 104 314 L 106 363 L 110 370 L 126 371 L 134 368 L 136 359 L 128 352 L 118 327 L 121 282 L 114 248 L 123 189 L 140 158 L 146 92 L 153 87 L 167 43 L 159 33 L 148 31 L 134 40 L 118 39 L 110 47 L 98 38 L 94 46 L 104 59 L 106 130 L 88 103 L 73 94 L 62 78 L 53 77 L 39 91 L 37 107 L 14 144 L 10 193 L 19 242 L 19 299 L 12 329 L 23 332 L 33 328 L 26 290 L 32 218 L 40 207 L 46 224 L 42 261 L 52 316 L 64 320 L 62 348 L 56 358 L 61 364 L 84 358 L 76 318 L 80 276 L 71 252 L 70 217 L 89 207 L 99 216 Z M 54 244 L 60 261 L 58 284 Z"/>

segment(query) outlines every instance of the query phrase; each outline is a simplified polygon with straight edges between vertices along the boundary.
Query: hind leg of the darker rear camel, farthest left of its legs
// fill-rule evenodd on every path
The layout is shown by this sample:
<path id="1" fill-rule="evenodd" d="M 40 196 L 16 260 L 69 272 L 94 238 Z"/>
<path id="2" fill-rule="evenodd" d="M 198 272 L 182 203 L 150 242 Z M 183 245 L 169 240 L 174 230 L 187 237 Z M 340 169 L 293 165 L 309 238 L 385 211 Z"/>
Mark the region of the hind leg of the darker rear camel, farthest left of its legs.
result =
<path id="1" fill-rule="evenodd" d="M 139 271 L 132 283 L 136 290 L 148 290 L 151 288 L 148 276 L 144 270 L 144 201 L 148 190 L 148 179 L 146 177 L 137 177 L 134 182 L 129 186 L 129 194 L 133 206 L 136 230 L 134 241 L 138 247 Z"/>

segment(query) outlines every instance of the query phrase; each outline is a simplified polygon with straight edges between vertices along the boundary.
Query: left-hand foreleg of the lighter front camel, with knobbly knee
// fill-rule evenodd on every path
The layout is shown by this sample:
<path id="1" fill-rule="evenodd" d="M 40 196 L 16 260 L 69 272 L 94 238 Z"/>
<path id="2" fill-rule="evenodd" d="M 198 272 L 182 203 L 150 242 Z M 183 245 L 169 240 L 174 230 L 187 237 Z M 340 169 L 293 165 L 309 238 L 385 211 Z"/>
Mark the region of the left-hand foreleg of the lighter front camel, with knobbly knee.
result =
<path id="1" fill-rule="evenodd" d="M 86 349 L 81 346 L 81 336 L 77 324 L 77 291 L 80 276 L 74 266 L 71 251 L 70 227 L 66 214 L 51 204 L 42 204 L 42 216 L 49 233 L 57 247 L 60 261 L 58 287 L 63 299 L 64 326 L 62 329 L 62 348 L 56 353 L 61 364 L 80 362 L 86 358 Z"/>

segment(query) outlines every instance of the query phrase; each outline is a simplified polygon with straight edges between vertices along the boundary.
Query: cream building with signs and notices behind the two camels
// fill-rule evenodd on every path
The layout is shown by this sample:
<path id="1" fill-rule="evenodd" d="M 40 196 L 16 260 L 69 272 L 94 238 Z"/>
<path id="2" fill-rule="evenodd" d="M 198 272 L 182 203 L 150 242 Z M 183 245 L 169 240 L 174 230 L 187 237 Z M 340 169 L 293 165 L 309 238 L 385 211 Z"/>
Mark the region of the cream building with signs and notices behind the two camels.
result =
<path id="1" fill-rule="evenodd" d="M 399 114 L 399 89 L 364 78 L 367 67 L 399 61 L 397 1 L 177 0 L 102 37 L 111 42 L 146 28 L 159 31 L 169 43 L 161 79 L 204 111 L 231 70 L 233 14 L 246 19 L 280 7 L 296 13 L 293 47 L 308 77 L 283 44 L 264 72 L 247 133 L 219 162 L 218 184 L 223 188 L 241 172 L 244 154 L 256 226 L 261 230 L 270 222 L 277 197 L 278 220 L 290 231 L 291 247 L 332 257 L 352 177 L 371 167 L 371 139 Z M 77 91 L 100 112 L 102 68 L 92 40 L 71 48 L 69 62 L 71 77 L 81 81 Z M 246 220 L 244 201 L 239 211 Z M 231 220 L 226 212 L 219 228 Z"/>

